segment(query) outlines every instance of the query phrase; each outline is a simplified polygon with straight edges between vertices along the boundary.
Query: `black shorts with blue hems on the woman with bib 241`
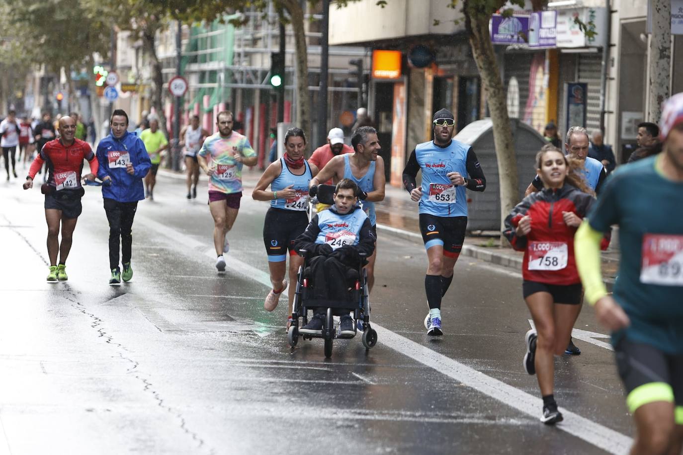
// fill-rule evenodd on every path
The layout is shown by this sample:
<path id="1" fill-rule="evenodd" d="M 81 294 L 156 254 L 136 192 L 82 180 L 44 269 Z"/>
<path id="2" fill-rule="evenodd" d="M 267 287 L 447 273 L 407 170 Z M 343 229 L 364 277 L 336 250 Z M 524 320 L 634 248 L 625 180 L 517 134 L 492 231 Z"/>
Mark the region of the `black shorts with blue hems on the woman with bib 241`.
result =
<path id="1" fill-rule="evenodd" d="M 287 250 L 290 250 L 292 255 L 296 254 L 294 240 L 307 226 L 308 216 L 305 211 L 270 207 L 263 225 L 263 243 L 266 246 L 268 261 L 286 261 Z"/>

